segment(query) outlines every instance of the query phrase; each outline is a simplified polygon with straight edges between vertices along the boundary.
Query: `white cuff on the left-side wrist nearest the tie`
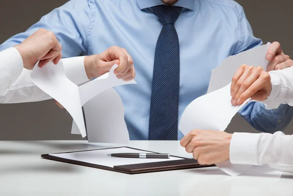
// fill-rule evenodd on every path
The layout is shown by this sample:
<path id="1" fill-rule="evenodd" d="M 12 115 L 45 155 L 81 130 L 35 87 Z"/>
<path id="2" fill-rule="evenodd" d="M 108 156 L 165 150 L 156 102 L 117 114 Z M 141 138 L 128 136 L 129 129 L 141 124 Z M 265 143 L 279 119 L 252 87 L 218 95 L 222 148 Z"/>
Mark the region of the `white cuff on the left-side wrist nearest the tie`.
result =
<path id="1" fill-rule="evenodd" d="M 84 68 L 84 57 L 62 59 L 67 78 L 76 85 L 89 81 Z"/>

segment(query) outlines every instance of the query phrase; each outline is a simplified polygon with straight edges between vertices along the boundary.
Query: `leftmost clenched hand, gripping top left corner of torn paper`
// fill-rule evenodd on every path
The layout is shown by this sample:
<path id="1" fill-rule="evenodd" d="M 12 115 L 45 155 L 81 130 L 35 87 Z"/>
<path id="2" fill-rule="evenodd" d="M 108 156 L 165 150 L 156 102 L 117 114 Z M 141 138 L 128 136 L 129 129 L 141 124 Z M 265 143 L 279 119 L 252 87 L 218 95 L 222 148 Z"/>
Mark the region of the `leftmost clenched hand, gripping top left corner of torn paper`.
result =
<path id="1" fill-rule="evenodd" d="M 50 61 L 56 65 L 62 57 L 61 44 L 54 33 L 45 29 L 39 29 L 14 47 L 21 54 L 23 67 L 26 69 L 33 69 L 39 60 L 39 67 L 45 66 Z"/>

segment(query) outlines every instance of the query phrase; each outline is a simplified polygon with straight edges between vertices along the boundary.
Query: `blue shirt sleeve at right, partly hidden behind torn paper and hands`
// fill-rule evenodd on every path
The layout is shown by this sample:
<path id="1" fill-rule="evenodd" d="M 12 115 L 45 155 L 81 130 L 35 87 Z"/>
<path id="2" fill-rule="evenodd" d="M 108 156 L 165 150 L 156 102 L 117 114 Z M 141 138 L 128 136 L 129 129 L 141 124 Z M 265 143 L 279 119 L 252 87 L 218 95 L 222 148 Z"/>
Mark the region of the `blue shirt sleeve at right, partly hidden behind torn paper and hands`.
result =
<path id="1" fill-rule="evenodd" d="M 262 45 L 262 41 L 255 38 L 251 25 L 246 19 L 243 8 L 239 11 L 239 39 L 234 54 Z M 293 117 L 293 107 L 287 104 L 279 105 L 275 109 L 266 109 L 261 102 L 249 102 L 239 110 L 239 114 L 258 131 L 274 133 L 283 131 Z"/>

